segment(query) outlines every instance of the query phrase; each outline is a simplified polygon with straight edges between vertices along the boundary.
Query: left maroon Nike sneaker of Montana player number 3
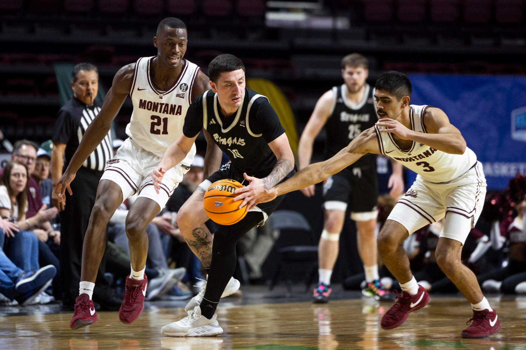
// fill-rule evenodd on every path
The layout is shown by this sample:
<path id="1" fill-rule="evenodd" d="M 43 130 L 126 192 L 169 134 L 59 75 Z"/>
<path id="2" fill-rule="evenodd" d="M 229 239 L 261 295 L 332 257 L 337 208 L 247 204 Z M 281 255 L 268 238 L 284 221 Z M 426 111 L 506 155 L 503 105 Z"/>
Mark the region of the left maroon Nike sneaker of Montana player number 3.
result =
<path id="1" fill-rule="evenodd" d="M 410 312 L 420 310 L 429 303 L 429 294 L 421 285 L 418 293 L 411 295 L 408 292 L 398 294 L 395 305 L 382 317 L 380 325 L 384 330 L 392 330 L 407 320 Z"/>

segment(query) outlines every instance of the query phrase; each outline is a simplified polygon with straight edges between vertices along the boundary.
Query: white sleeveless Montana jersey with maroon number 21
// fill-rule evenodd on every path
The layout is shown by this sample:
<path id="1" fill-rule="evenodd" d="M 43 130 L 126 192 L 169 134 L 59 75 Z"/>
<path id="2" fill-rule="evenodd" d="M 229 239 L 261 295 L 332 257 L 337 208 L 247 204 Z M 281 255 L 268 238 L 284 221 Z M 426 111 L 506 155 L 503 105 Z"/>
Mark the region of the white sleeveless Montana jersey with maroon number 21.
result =
<path id="1" fill-rule="evenodd" d="M 154 57 L 141 57 L 135 64 L 130 90 L 133 113 L 126 126 L 126 134 L 143 149 L 163 157 L 168 146 L 183 132 L 186 111 L 200 68 L 184 60 L 185 65 L 174 86 L 167 91 L 159 91 L 150 74 Z M 195 153 L 193 145 L 182 163 L 190 166 Z"/>

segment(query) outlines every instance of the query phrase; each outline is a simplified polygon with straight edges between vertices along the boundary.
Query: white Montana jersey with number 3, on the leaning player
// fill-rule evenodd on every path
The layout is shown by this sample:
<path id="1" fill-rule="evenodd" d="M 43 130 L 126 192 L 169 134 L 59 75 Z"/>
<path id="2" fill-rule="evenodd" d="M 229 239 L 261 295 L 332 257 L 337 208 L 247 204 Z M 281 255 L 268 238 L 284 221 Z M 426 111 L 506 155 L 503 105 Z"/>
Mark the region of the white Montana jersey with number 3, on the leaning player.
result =
<path id="1" fill-rule="evenodd" d="M 412 130 L 427 132 L 423 117 L 428 107 L 430 106 L 409 106 Z M 409 149 L 403 150 L 395 142 L 392 133 L 380 132 L 380 129 L 385 127 L 375 126 L 380 152 L 416 172 L 423 180 L 434 183 L 448 182 L 458 178 L 477 163 L 477 156 L 468 147 L 463 155 L 452 155 L 413 141 Z"/>

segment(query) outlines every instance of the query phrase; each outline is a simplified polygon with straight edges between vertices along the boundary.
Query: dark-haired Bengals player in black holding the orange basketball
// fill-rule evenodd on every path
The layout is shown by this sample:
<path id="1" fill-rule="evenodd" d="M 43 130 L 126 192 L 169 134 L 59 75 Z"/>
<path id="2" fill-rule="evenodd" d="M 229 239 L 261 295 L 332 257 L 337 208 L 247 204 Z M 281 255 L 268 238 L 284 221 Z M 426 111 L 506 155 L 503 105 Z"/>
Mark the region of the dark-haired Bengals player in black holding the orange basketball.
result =
<path id="1" fill-rule="evenodd" d="M 152 174 L 154 186 L 160 189 L 164 173 L 185 158 L 201 129 L 205 129 L 216 145 L 230 156 L 230 161 L 201 183 L 178 212 L 177 223 L 190 246 L 195 245 L 197 237 L 195 230 L 191 230 L 202 227 L 208 219 L 203 195 L 211 183 L 220 179 L 246 183 L 245 176 L 255 176 L 261 180 L 254 183 L 252 189 L 262 193 L 294 173 L 294 156 L 285 130 L 268 99 L 245 87 L 245 66 L 241 60 L 228 54 L 219 55 L 208 66 L 208 74 L 211 90 L 192 102 L 185 118 L 184 135 L 168 147 Z M 236 267 L 236 243 L 251 228 L 264 224 L 283 198 L 280 196 L 258 205 L 238 223 L 219 225 L 211 254 L 201 251 L 198 255 L 205 267 L 203 258 L 211 255 L 206 290 L 200 304 L 188 310 L 183 320 L 164 326 L 163 334 L 209 336 L 222 333 L 215 310 Z M 210 235 L 200 240 L 209 244 Z"/>

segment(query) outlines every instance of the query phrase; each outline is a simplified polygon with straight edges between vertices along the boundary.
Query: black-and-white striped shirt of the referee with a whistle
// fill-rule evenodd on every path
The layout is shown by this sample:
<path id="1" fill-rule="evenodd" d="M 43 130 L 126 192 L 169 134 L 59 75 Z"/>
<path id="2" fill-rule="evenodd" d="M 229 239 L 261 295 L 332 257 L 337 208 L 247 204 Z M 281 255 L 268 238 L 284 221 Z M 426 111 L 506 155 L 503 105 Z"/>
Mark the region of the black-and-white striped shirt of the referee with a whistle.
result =
<path id="1" fill-rule="evenodd" d="M 89 124 L 95 119 L 100 106 L 95 102 L 93 106 L 87 106 L 79 99 L 73 97 L 58 111 L 55 122 L 53 141 L 66 144 L 64 167 L 67 167 Z M 108 134 L 99 143 L 97 148 L 84 162 L 85 168 L 103 171 L 106 162 L 113 158 L 112 135 Z"/>

